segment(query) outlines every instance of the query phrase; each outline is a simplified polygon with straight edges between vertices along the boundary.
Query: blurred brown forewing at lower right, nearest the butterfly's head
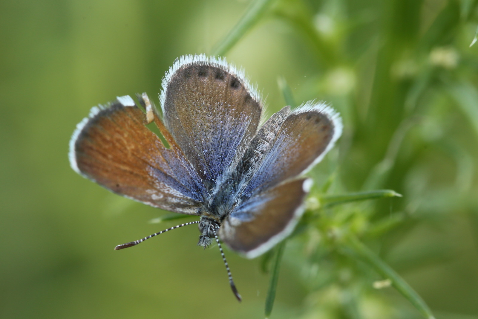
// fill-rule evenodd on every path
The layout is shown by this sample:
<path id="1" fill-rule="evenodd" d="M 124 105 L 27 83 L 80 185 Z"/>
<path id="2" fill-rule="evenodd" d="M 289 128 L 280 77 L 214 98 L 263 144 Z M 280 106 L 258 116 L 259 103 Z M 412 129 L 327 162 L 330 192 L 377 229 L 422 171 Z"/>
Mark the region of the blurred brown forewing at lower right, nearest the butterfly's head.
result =
<path id="1" fill-rule="evenodd" d="M 304 212 L 303 201 L 312 181 L 295 179 L 249 198 L 219 228 L 229 248 L 254 258 L 282 241 Z"/>

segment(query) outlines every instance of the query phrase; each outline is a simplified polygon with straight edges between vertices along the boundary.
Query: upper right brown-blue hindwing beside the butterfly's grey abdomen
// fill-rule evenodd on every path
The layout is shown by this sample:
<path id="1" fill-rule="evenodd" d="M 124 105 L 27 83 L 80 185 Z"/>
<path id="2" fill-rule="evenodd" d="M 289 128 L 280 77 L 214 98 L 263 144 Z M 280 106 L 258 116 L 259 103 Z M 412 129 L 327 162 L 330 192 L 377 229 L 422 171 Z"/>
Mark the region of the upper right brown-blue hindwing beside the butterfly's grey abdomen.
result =
<path id="1" fill-rule="evenodd" d="M 342 132 L 340 117 L 324 104 L 306 104 L 287 113 L 284 119 L 287 110 L 276 113 L 282 114 L 279 122 L 271 121 L 274 114 L 252 140 L 242 161 L 250 161 L 247 155 L 255 154 L 244 174 L 247 180 L 243 181 L 243 198 L 303 174 L 324 157 Z M 263 130 L 268 132 L 265 137 L 259 136 Z"/>

